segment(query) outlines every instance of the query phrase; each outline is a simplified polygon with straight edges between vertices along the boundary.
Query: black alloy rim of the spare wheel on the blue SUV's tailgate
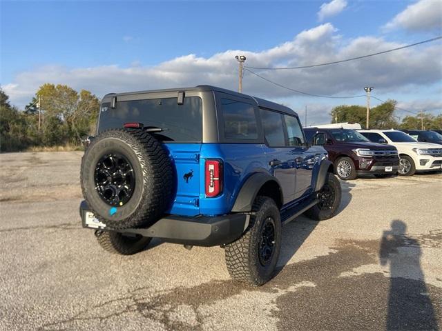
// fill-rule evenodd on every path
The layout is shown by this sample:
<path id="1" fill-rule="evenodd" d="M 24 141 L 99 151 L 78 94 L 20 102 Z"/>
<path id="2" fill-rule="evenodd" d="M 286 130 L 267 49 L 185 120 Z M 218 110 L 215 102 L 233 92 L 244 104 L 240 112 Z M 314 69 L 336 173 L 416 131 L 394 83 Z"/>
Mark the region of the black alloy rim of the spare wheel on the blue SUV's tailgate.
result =
<path id="1" fill-rule="evenodd" d="M 105 154 L 95 166 L 95 188 L 108 205 L 124 205 L 135 189 L 131 163 L 119 153 Z"/>

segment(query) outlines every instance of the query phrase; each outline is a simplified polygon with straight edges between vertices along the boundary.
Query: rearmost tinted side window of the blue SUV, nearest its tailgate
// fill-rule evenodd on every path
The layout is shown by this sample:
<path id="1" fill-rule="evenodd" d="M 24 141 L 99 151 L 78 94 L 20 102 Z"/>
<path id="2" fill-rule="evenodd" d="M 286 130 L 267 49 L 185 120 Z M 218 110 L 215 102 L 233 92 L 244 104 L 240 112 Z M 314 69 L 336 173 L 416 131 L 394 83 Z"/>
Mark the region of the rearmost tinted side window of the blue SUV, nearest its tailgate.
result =
<path id="1" fill-rule="evenodd" d="M 226 139 L 258 139 L 255 108 L 251 104 L 221 99 L 221 105 Z"/>

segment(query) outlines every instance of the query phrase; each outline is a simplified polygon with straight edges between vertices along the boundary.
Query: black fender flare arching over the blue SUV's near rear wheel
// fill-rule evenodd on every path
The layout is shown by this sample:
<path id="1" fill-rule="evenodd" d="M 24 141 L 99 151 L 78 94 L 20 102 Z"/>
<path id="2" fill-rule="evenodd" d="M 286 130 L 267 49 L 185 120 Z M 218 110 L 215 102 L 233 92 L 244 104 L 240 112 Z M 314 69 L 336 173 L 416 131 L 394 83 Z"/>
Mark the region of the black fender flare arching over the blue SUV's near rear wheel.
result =
<path id="1" fill-rule="evenodd" d="M 233 205 L 232 212 L 250 212 L 253 201 L 255 201 L 259 190 L 265 183 L 273 181 L 279 186 L 280 201 L 284 201 L 282 197 L 281 185 L 275 177 L 267 174 L 267 172 L 256 172 L 252 174 L 242 185 L 238 197 L 236 197 L 235 204 Z"/>

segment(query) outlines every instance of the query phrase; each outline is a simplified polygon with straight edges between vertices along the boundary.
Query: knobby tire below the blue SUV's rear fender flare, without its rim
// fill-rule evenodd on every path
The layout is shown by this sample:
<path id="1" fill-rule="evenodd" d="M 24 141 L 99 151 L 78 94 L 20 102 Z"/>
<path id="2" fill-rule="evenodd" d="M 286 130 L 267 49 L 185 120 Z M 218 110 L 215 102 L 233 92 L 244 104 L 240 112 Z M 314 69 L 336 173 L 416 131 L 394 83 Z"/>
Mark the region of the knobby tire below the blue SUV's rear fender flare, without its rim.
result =
<path id="1" fill-rule="evenodd" d="M 225 246 L 225 259 L 232 279 L 259 286 L 271 279 L 278 262 L 281 248 L 281 220 L 278 206 L 269 197 L 257 197 L 252 210 L 253 215 L 246 232 L 240 239 Z M 263 225 L 268 217 L 274 221 L 275 240 L 268 263 L 262 265 L 259 245 Z"/>

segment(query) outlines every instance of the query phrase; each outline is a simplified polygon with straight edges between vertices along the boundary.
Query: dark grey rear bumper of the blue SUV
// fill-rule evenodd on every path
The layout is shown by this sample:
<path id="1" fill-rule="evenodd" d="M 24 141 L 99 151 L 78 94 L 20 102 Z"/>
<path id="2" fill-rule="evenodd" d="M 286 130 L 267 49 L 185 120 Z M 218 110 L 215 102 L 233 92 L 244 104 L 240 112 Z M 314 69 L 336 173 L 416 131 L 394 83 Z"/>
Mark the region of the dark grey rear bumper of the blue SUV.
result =
<path id="1" fill-rule="evenodd" d="M 92 228 L 86 224 L 88 204 L 81 201 L 80 216 L 84 228 Z M 160 238 L 170 243 L 182 243 L 195 246 L 216 246 L 231 243 L 241 237 L 249 225 L 249 214 L 227 214 L 216 217 L 179 217 L 175 215 L 163 217 L 148 228 L 118 230 L 122 233 L 141 234 L 143 237 Z M 109 230 L 109 228 L 100 228 Z"/>

